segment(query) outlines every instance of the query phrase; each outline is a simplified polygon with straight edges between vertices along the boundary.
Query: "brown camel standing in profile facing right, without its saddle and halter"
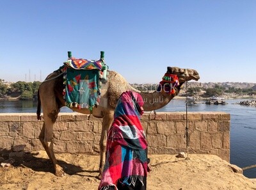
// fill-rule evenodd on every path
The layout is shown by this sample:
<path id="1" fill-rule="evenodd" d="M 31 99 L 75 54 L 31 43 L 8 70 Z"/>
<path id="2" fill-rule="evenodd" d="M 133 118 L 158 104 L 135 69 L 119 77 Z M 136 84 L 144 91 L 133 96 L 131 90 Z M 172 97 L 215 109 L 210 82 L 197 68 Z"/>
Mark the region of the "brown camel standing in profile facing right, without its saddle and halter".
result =
<path id="1" fill-rule="evenodd" d="M 140 93 L 145 101 L 143 106 L 144 111 L 155 111 L 161 107 L 164 107 L 170 100 L 173 99 L 177 94 L 179 94 L 180 87 L 186 81 L 200 79 L 198 72 L 193 69 L 184 69 L 179 67 L 168 67 L 168 74 L 176 74 L 179 77 L 179 86 L 175 87 L 175 94 L 162 93 L 158 91 L 147 92 L 139 91 L 125 81 L 122 75 L 115 71 L 108 71 L 108 81 L 102 84 L 101 87 L 101 98 L 100 104 L 97 107 L 93 107 L 92 115 L 96 118 L 102 118 L 102 133 L 100 138 L 100 164 L 99 164 L 99 177 L 104 167 L 104 159 L 106 154 L 106 136 L 111 123 L 113 122 L 113 113 L 115 111 L 116 102 L 120 95 L 127 90 L 132 90 Z M 55 71 L 49 74 L 45 81 L 40 84 L 38 88 L 38 107 L 37 107 L 37 118 L 41 119 L 41 106 L 44 115 L 44 125 L 42 131 L 40 132 L 39 139 L 44 146 L 49 159 L 54 165 L 54 174 L 56 176 L 63 176 L 65 172 L 63 168 L 58 164 L 53 151 L 52 143 L 52 130 L 54 122 L 60 108 L 65 106 L 65 100 L 63 99 L 63 75 L 60 71 Z M 73 111 L 83 114 L 90 114 L 89 109 L 78 109 L 76 107 L 70 108 Z"/>

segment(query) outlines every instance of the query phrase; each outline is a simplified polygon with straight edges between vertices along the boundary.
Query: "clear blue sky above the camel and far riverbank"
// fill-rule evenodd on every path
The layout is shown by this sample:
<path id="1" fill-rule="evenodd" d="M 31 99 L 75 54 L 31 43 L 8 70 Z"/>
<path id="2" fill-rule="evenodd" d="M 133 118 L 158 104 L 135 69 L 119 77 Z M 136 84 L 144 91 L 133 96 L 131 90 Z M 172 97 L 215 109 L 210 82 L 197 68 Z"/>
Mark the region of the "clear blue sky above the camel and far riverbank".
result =
<path id="1" fill-rule="evenodd" d="M 168 66 L 202 83 L 256 83 L 255 10 L 255 0 L 0 0 L 0 79 L 44 80 L 67 51 L 105 51 L 129 83 L 159 83 Z"/>

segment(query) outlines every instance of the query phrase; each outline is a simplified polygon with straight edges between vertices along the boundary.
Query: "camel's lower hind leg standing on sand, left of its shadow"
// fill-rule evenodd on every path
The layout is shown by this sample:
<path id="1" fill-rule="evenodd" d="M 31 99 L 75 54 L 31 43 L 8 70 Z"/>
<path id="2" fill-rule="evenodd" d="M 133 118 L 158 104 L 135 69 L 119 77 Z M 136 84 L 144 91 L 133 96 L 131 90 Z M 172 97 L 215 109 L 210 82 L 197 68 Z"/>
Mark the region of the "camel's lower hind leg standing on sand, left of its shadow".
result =
<path id="1" fill-rule="evenodd" d="M 45 152 L 49 156 L 49 159 L 52 161 L 52 164 L 55 170 L 55 175 L 63 176 L 65 173 L 56 160 L 56 157 L 53 152 L 53 143 L 52 143 L 53 124 L 56 121 L 57 116 L 58 116 L 58 111 L 53 111 L 48 115 L 44 115 L 44 125 L 42 127 L 42 131 L 40 132 L 39 139 L 42 145 L 44 146 Z"/>

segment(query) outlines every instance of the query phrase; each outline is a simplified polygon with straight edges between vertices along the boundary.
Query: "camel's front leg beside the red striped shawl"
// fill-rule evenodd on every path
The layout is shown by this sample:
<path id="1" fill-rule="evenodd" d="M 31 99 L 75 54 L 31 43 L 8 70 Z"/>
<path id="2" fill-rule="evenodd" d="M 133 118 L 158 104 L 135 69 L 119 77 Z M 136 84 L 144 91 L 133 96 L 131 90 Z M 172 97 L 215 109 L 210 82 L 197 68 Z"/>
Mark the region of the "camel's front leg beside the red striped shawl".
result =
<path id="1" fill-rule="evenodd" d="M 108 129 L 113 122 L 113 115 L 108 114 L 104 115 L 102 120 L 102 132 L 100 136 L 100 167 L 99 167 L 99 176 L 101 178 L 102 171 L 104 168 L 105 160 L 106 160 L 106 142 L 107 142 L 107 134 Z"/>

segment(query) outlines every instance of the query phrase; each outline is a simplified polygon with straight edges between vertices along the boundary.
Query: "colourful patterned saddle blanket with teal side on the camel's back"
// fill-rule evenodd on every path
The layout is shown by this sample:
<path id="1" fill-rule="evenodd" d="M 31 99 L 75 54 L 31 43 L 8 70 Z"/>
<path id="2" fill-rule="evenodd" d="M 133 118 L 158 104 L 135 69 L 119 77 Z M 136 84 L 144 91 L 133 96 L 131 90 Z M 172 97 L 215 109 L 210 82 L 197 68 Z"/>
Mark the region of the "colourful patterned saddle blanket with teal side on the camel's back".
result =
<path id="1" fill-rule="evenodd" d="M 63 98 L 67 107 L 88 108 L 92 113 L 100 102 L 100 88 L 106 82 L 108 66 L 104 59 L 68 58 L 61 70 L 64 72 Z"/>

